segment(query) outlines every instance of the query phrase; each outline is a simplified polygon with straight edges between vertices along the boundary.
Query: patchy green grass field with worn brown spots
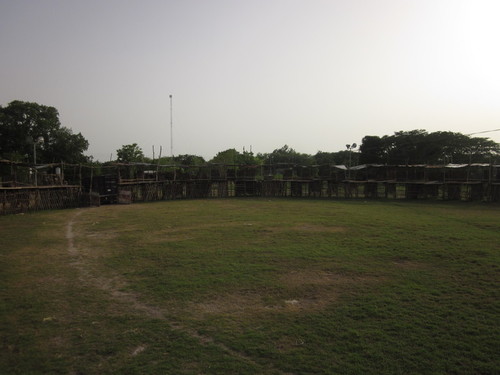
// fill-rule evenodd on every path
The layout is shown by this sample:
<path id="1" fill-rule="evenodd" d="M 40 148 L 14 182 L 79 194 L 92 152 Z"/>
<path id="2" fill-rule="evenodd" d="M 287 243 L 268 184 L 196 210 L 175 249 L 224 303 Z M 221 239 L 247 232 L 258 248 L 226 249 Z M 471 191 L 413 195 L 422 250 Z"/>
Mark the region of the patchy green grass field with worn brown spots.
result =
<path id="1" fill-rule="evenodd" d="M 500 373 L 500 207 L 226 199 L 0 217 L 2 374 Z"/>

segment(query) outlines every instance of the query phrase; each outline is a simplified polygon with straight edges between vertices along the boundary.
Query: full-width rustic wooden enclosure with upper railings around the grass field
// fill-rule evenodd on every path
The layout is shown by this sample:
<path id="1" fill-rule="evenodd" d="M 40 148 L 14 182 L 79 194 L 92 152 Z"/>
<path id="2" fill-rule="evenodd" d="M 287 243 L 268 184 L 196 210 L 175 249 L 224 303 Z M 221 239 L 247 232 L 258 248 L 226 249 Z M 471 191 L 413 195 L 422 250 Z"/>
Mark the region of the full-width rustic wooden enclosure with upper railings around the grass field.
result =
<path id="1" fill-rule="evenodd" d="M 363 165 L 350 170 L 333 165 L 156 166 L 151 169 L 148 164 L 117 164 L 100 166 L 100 174 L 88 166 L 65 166 L 64 170 L 60 168 L 64 173 L 57 171 L 54 178 L 35 171 L 38 183 L 58 183 L 50 186 L 20 186 L 24 183 L 18 176 L 26 176 L 25 183 L 33 178 L 33 173 L 23 172 L 22 168 L 30 167 L 11 164 L 8 169 L 11 175 L 3 176 L 0 214 L 106 203 L 231 197 L 500 202 L 500 166 L 489 164 Z M 58 166 L 50 168 L 56 170 Z M 68 178 L 70 172 L 72 179 Z"/>

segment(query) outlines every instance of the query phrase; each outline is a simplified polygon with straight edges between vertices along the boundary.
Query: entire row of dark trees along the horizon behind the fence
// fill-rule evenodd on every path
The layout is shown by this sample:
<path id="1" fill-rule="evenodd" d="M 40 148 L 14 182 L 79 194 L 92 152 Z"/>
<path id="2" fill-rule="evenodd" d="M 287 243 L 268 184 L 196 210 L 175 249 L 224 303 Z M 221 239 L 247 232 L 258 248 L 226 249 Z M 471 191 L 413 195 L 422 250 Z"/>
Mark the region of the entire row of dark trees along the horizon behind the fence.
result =
<path id="1" fill-rule="evenodd" d="M 57 109 L 37 103 L 13 101 L 0 106 L 0 159 L 21 162 L 70 164 L 90 163 L 84 153 L 89 142 L 81 133 L 61 125 Z M 297 165 L 356 165 L 356 164 L 447 164 L 497 163 L 500 145 L 488 138 L 461 133 L 417 129 L 397 131 L 393 135 L 367 135 L 359 148 L 346 145 L 345 150 L 318 151 L 314 155 L 294 150 L 288 145 L 270 153 L 238 151 L 230 148 L 218 152 L 212 159 L 198 155 L 176 155 L 159 160 L 146 157 L 137 143 L 116 150 L 116 162 L 161 163 L 179 165 L 217 164 L 297 164 Z M 35 160 L 36 159 L 36 160 Z"/>

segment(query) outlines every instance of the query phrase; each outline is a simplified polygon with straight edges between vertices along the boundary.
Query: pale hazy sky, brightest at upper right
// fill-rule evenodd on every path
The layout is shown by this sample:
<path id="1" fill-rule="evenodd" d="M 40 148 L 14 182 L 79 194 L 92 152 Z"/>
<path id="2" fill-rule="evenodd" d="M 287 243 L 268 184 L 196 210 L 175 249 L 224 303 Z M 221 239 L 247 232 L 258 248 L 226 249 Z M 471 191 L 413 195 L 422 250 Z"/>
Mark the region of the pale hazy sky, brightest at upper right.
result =
<path id="1" fill-rule="evenodd" d="M 56 107 L 101 161 L 170 154 L 170 94 L 174 154 L 207 159 L 493 130 L 499 16 L 499 0 L 0 0 L 0 105 Z"/>

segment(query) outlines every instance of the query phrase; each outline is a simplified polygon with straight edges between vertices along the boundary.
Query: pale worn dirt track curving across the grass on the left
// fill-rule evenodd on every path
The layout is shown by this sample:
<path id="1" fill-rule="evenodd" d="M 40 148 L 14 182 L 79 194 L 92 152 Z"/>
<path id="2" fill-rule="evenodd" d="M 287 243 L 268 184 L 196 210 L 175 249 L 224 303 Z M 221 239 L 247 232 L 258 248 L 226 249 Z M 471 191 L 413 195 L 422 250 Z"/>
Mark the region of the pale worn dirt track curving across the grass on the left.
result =
<path id="1" fill-rule="evenodd" d="M 245 354 L 230 349 L 223 343 L 216 342 L 211 337 L 200 335 L 194 329 L 185 327 L 177 322 L 169 320 L 167 318 L 167 311 L 164 311 L 157 306 L 152 306 L 150 304 L 142 302 L 139 294 L 133 292 L 123 292 L 120 289 L 123 289 L 123 287 L 126 286 L 126 281 L 120 278 L 118 275 L 105 277 L 103 275 L 97 276 L 95 273 L 92 273 L 92 267 L 88 259 L 89 255 L 86 254 L 83 249 L 79 249 L 75 245 L 75 227 L 77 225 L 78 217 L 84 212 L 85 211 L 83 209 L 79 210 L 75 215 L 71 217 L 66 226 L 66 239 L 68 241 L 67 249 L 68 253 L 72 257 L 71 265 L 78 270 L 79 278 L 84 285 L 88 285 L 90 287 L 94 287 L 109 293 L 112 300 L 120 302 L 124 306 L 128 306 L 128 310 L 130 312 L 140 313 L 147 318 L 160 319 L 166 322 L 172 330 L 182 332 L 190 336 L 191 338 L 196 339 L 202 345 L 213 345 L 236 359 L 243 360 L 258 368 L 262 368 L 261 364 L 257 363 L 255 360 L 246 356 Z M 145 347 L 138 347 L 132 353 L 132 355 L 137 355 L 144 350 L 146 350 Z M 292 375 L 290 373 L 284 373 L 276 368 L 272 368 L 272 370 L 277 374 Z"/>

